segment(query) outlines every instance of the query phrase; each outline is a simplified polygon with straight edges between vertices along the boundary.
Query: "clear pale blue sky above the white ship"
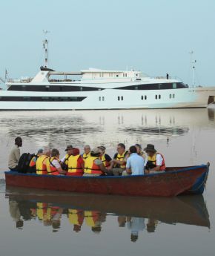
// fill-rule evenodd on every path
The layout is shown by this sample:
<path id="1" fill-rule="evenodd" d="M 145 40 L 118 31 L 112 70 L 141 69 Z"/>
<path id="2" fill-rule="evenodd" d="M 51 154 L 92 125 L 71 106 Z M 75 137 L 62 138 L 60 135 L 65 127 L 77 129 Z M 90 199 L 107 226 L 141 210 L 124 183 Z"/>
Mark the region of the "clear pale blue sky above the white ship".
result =
<path id="1" fill-rule="evenodd" d="M 149 76 L 215 85 L 214 0 L 7 0 L 0 1 L 0 76 L 35 76 L 49 67 L 141 70 Z"/>

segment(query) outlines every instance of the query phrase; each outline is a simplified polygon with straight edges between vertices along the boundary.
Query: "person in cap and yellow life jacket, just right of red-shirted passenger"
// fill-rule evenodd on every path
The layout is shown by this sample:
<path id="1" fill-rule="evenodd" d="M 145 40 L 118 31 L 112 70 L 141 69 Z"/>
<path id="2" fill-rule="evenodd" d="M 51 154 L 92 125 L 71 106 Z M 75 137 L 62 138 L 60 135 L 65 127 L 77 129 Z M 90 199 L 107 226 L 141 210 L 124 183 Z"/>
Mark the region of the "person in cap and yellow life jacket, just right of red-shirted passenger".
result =
<path id="1" fill-rule="evenodd" d="M 90 156 L 85 160 L 85 169 L 83 176 L 100 176 L 107 171 L 102 160 L 99 159 L 99 148 L 93 148 Z"/>

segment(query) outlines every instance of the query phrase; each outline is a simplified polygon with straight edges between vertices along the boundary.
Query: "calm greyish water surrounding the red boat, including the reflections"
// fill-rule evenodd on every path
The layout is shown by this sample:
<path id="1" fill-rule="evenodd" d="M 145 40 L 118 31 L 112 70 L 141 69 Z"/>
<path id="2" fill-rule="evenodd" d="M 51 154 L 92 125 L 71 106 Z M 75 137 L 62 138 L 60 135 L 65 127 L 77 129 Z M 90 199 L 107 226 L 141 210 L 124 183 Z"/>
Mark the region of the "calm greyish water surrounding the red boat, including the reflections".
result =
<path id="1" fill-rule="evenodd" d="M 214 255 L 215 108 L 0 112 L 0 255 Z M 156 145 L 170 165 L 211 163 L 203 196 L 148 198 L 5 187 L 15 137 L 49 145 Z"/>

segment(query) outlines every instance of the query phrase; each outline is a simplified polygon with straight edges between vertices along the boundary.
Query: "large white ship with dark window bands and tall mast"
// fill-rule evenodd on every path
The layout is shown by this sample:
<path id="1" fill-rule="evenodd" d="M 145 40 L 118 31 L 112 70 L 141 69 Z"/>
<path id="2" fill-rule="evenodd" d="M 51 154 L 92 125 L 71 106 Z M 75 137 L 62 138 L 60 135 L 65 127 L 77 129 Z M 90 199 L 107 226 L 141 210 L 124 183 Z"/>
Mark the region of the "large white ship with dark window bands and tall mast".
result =
<path id="1" fill-rule="evenodd" d="M 47 55 L 47 40 L 44 50 Z M 33 79 L 8 79 L 6 85 L 0 91 L 0 110 L 206 108 L 215 96 L 215 87 L 188 87 L 168 76 L 151 78 L 135 70 L 41 68 Z"/>

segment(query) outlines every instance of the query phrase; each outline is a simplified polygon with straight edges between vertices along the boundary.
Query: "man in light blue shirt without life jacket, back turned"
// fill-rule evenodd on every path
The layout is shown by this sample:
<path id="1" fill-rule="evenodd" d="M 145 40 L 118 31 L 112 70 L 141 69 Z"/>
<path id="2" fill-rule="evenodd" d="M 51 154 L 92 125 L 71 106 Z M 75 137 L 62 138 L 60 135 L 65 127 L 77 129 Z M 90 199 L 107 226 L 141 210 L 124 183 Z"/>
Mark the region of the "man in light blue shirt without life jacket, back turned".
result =
<path id="1" fill-rule="evenodd" d="M 144 159 L 137 154 L 136 146 L 132 145 L 129 148 L 130 157 L 127 159 L 126 171 L 122 175 L 143 175 L 144 174 Z"/>

